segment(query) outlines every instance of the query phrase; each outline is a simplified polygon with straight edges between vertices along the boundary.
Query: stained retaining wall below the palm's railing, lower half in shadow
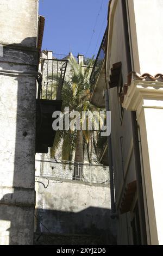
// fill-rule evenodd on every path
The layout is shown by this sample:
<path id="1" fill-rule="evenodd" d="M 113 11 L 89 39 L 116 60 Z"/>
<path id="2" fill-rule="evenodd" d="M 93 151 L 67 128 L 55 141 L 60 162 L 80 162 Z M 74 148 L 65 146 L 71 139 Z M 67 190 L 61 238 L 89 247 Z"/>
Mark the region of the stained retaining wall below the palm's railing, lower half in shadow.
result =
<path id="1" fill-rule="evenodd" d="M 102 236 L 115 242 L 116 223 L 110 218 L 110 187 L 37 178 L 36 215 L 53 234 Z M 45 184 L 45 187 L 40 182 Z M 37 233 L 48 233 L 36 220 Z"/>

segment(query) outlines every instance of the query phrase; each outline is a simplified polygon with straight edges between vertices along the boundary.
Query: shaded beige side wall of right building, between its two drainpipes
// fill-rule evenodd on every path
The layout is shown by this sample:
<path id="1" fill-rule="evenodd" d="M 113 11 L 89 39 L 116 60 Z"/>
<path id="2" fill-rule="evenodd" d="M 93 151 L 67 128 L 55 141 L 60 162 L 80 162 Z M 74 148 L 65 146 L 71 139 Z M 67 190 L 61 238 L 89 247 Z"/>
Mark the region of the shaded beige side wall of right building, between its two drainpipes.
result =
<path id="1" fill-rule="evenodd" d="M 129 0 L 130 1 L 130 0 Z M 109 40 L 108 40 L 108 74 L 111 75 L 112 65 L 122 63 L 122 83 L 127 83 L 127 50 L 126 35 L 123 22 L 123 0 L 112 1 L 110 7 Z M 120 97 L 117 87 L 109 89 L 109 106 L 111 111 L 111 142 L 114 166 L 116 208 L 120 207 L 124 187 L 136 180 L 133 131 L 131 113 L 123 109 L 121 112 Z M 122 147 L 122 148 L 121 148 Z M 119 212 L 118 212 L 119 214 Z M 118 215 L 118 245 L 131 244 L 130 216 Z"/>

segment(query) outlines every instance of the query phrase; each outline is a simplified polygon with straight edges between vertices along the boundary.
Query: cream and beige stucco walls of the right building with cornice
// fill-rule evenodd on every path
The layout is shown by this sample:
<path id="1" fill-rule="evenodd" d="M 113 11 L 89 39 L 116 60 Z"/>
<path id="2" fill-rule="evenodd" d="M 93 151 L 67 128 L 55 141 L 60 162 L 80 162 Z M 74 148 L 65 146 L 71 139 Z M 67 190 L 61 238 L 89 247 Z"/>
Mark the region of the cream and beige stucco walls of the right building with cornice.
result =
<path id="1" fill-rule="evenodd" d="M 125 7 L 125 5 L 123 5 L 124 2 L 127 4 L 128 31 L 126 31 L 127 27 L 126 29 L 124 27 L 126 23 L 125 19 L 123 21 L 123 11 L 125 13 L 125 10 L 123 10 L 122 7 Z M 108 74 L 112 68 L 112 64 L 116 62 L 122 62 L 123 85 L 128 83 L 127 75 L 128 72 L 131 71 L 127 69 L 127 53 L 130 53 L 129 57 L 131 57 L 132 71 L 139 72 L 140 74 L 149 73 L 153 76 L 155 74 L 162 73 L 162 33 L 160 33 L 163 26 L 163 23 L 161 22 L 162 8 L 163 2 L 161 0 L 111 1 L 107 58 Z M 125 33 L 125 31 L 129 32 L 130 45 L 127 44 L 128 35 Z M 127 51 L 126 46 L 128 47 Z M 153 83 L 153 81 L 151 83 Z M 128 102 L 130 102 L 130 107 L 127 107 L 127 111 L 124 109 L 122 118 L 118 90 L 117 88 L 109 90 L 109 105 L 111 110 L 111 139 L 112 153 L 114 157 L 114 178 L 117 210 L 120 209 L 124 188 L 129 182 L 136 180 L 136 163 L 134 155 L 135 149 L 133 149 L 133 129 L 131 126 L 130 111 L 137 111 L 137 123 L 140 129 L 141 137 L 139 138 L 142 171 L 141 175 L 142 180 L 145 180 L 145 182 L 142 182 L 142 185 L 145 202 L 147 240 L 149 245 L 156 245 L 158 243 L 161 244 L 163 241 L 162 218 L 160 214 L 162 212 L 160 206 L 162 191 L 159 190 L 161 187 L 161 185 L 159 186 L 159 183 L 162 180 L 162 141 L 159 138 L 162 127 L 162 95 L 160 93 L 161 86 L 162 84 L 159 84 L 158 87 L 155 85 L 155 88 L 153 87 L 153 89 L 149 87 L 149 84 L 147 84 L 146 81 L 146 93 L 143 90 L 143 86 L 139 92 L 138 90 L 136 91 L 136 84 L 134 84 L 133 90 L 128 90 L 126 96 L 126 99 L 129 99 Z M 148 92 L 148 88 L 150 88 L 150 92 Z M 144 101 L 142 100 L 142 95 L 144 97 Z M 154 136 L 153 131 L 156 133 Z M 120 140 L 122 144 L 120 143 Z M 156 149 L 158 149 L 158 151 Z M 139 160 L 137 160 L 137 163 L 139 163 Z M 137 168 L 138 172 L 139 169 L 140 168 Z M 158 175 L 155 175 L 156 173 Z M 140 184 L 140 182 L 138 182 L 137 185 L 138 184 Z M 139 186 L 137 186 L 137 188 L 138 189 L 135 194 L 135 198 L 133 199 L 132 206 L 130 208 L 130 213 L 122 215 L 119 214 L 118 245 L 133 244 L 134 229 L 131 228 L 131 221 L 133 220 L 136 200 L 139 202 L 141 236 L 145 237 L 142 231 L 143 223 L 145 222 L 142 217 L 143 207 L 141 203 L 143 202 L 140 200 L 141 190 L 139 190 Z M 145 240 L 142 239 L 142 242 L 145 243 Z"/>

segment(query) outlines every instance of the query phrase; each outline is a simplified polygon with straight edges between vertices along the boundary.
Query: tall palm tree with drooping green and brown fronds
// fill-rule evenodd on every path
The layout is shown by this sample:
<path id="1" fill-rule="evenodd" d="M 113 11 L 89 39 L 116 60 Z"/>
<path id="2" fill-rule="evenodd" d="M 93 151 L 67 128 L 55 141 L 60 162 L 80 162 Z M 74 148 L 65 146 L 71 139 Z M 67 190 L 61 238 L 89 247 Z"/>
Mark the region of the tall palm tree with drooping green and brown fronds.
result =
<path id="1" fill-rule="evenodd" d="M 71 78 L 65 80 L 62 87 L 62 111 L 65 107 L 69 107 L 71 111 L 78 111 L 82 116 L 82 111 L 99 111 L 97 107 L 90 103 L 91 83 L 90 72 L 93 65 L 93 58 L 89 60 L 86 67 L 78 64 L 76 59 L 71 58 Z M 82 120 L 80 120 L 82 123 Z M 83 162 L 85 149 L 89 162 L 92 162 L 92 150 L 95 145 L 97 132 L 93 131 L 77 131 L 58 130 L 54 145 L 51 148 L 51 157 L 61 147 L 62 160 L 71 161 L 74 158 L 75 162 Z"/>

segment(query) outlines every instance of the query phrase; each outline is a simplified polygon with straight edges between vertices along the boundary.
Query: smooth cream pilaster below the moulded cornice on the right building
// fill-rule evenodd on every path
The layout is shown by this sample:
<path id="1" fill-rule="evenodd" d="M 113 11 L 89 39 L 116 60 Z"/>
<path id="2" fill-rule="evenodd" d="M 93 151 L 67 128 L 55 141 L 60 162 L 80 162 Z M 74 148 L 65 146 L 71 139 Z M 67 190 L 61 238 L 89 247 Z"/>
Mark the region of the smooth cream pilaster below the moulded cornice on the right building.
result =
<path id="1" fill-rule="evenodd" d="M 162 164 L 162 151 L 163 151 L 163 101 L 154 102 L 155 100 L 145 100 L 144 105 L 147 106 L 144 108 L 145 112 L 145 122 L 146 122 L 146 133 L 147 133 L 147 143 L 148 143 L 148 154 L 149 154 L 149 165 L 151 170 L 151 181 L 152 181 L 152 191 L 153 191 L 153 200 L 154 200 L 154 211 L 155 211 L 155 220 L 156 220 L 156 229 L 158 236 L 158 242 L 155 241 L 156 236 L 153 235 L 153 230 L 151 230 L 152 243 L 163 245 L 163 189 L 162 189 L 162 180 L 163 180 L 163 164 Z M 158 106 L 159 103 L 159 106 Z M 155 106 L 151 108 L 150 106 Z M 158 106 L 158 107 L 156 107 Z M 142 137 L 142 143 L 143 143 Z M 144 159 L 146 161 L 148 159 Z M 148 187 L 147 176 L 146 184 Z M 150 193 L 150 192 L 149 192 Z M 150 193 L 151 194 L 151 193 Z M 152 198 L 148 197 L 149 202 L 152 201 Z M 148 205 L 150 203 L 148 202 Z M 150 215 L 150 212 L 149 212 Z"/>

